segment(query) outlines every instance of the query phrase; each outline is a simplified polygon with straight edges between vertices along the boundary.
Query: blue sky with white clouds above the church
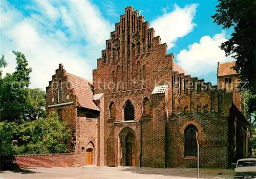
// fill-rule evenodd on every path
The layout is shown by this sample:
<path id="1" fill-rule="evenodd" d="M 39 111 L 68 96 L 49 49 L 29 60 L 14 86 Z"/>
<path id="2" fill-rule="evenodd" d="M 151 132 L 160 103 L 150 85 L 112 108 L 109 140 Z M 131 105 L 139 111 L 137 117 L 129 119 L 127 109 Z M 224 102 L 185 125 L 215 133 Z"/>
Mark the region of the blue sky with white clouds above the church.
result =
<path id="1" fill-rule="evenodd" d="M 218 62 L 233 61 L 219 48 L 232 29 L 222 29 L 211 15 L 217 0 L 177 1 L 0 1 L 1 55 L 14 72 L 12 50 L 26 55 L 32 88 L 44 89 L 62 63 L 69 73 L 92 81 L 92 70 L 115 30 L 124 8 L 133 6 L 154 28 L 178 63 L 192 77 L 217 83 Z"/>

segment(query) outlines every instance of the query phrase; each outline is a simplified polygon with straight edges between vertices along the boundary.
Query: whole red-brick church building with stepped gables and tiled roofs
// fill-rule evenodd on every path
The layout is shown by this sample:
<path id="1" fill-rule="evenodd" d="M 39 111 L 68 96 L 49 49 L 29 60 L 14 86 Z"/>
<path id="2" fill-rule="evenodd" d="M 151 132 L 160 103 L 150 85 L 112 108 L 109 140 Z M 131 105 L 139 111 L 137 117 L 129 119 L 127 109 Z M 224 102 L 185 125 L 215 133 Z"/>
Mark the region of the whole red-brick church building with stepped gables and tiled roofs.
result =
<path id="1" fill-rule="evenodd" d="M 63 65 L 47 87 L 73 137 L 76 165 L 227 168 L 247 154 L 234 62 L 218 64 L 218 85 L 192 78 L 167 54 L 144 17 L 125 8 L 106 40 L 93 82 Z"/>

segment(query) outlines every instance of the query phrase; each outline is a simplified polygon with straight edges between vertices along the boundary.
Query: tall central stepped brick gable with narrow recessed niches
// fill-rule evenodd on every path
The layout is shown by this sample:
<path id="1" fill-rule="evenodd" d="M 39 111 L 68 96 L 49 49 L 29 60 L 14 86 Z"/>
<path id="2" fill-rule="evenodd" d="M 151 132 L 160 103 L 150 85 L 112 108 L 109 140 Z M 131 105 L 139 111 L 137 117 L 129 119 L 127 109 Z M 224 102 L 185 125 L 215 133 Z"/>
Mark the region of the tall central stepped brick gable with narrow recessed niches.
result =
<path id="1" fill-rule="evenodd" d="M 160 36 L 155 36 L 154 28 L 144 20 L 132 6 L 126 7 L 120 15 L 115 31 L 105 41 L 101 58 L 97 59 L 97 68 L 93 70 L 96 93 L 153 90 L 154 81 L 162 81 L 163 76 L 188 75 L 174 62 L 174 55 L 167 54 L 167 44 L 161 43 Z M 189 78 L 186 76 L 186 80 Z M 101 84 L 96 85 L 97 82 Z M 103 90 L 102 82 L 113 83 L 116 88 Z"/>

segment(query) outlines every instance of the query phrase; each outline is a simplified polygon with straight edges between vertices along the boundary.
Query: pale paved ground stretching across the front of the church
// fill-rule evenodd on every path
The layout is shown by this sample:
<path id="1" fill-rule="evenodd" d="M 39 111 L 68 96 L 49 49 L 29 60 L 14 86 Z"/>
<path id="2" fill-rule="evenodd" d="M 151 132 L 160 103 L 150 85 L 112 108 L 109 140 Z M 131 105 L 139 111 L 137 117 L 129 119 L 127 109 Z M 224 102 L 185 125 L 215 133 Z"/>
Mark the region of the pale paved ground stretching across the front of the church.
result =
<path id="1" fill-rule="evenodd" d="M 233 178 L 226 169 L 200 169 L 200 178 Z M 27 168 L 0 172 L 0 178 L 197 178 L 194 168 L 65 167 Z"/>

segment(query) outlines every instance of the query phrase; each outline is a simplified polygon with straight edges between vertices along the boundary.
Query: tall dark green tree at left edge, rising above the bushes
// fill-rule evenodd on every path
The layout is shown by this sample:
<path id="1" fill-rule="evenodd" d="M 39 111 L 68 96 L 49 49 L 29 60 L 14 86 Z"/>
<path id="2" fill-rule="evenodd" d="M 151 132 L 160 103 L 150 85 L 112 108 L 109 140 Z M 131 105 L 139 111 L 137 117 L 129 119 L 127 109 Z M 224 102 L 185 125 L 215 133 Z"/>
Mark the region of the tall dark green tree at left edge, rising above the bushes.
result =
<path id="1" fill-rule="evenodd" d="M 23 114 L 26 111 L 26 102 L 29 91 L 27 87 L 30 84 L 29 74 L 32 69 L 28 67 L 28 61 L 24 54 L 12 51 L 16 55 L 17 67 L 12 74 L 7 73 L 1 83 L 1 104 L 0 104 L 0 119 L 1 121 L 8 120 L 9 122 L 23 122 Z M 6 65 L 6 63 L 5 63 Z"/>

